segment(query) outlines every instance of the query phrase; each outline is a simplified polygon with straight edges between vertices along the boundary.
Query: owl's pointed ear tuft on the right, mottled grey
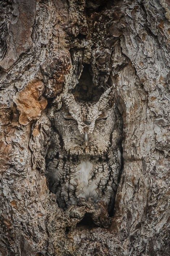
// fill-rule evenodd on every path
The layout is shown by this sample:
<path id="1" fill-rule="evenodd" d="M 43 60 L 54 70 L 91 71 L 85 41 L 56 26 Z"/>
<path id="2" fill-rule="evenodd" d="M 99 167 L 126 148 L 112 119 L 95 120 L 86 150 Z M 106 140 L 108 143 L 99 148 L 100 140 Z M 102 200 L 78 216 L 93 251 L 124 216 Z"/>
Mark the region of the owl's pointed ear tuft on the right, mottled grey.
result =
<path id="1" fill-rule="evenodd" d="M 103 111 L 105 109 L 108 109 L 114 105 L 114 95 L 113 87 L 110 87 L 107 89 L 102 96 L 100 97 L 99 101 L 96 103 L 96 106 L 98 107 L 99 111 Z"/>

